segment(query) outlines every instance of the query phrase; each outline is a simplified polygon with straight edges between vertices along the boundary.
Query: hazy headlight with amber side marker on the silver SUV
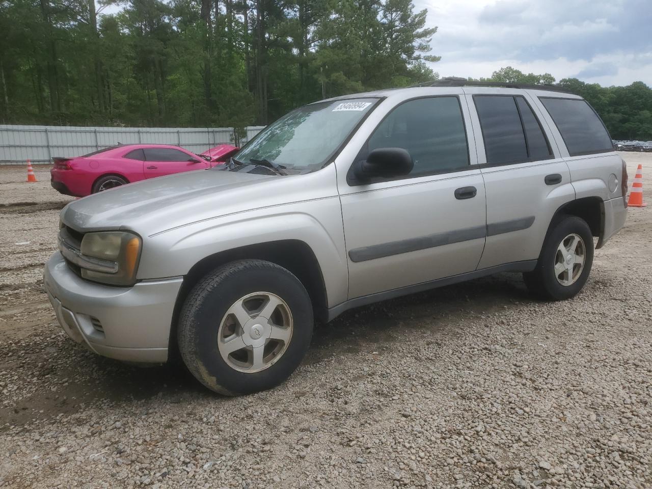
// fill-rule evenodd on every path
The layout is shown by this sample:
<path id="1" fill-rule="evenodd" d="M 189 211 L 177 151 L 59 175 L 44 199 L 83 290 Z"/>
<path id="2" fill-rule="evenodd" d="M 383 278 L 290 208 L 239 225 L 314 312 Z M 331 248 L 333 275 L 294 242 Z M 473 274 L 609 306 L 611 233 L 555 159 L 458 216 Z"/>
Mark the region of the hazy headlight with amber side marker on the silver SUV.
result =
<path id="1" fill-rule="evenodd" d="M 82 265 L 82 277 L 103 284 L 133 285 L 136 283 L 140 249 L 141 239 L 134 233 L 87 233 L 82 239 L 80 252 L 83 257 L 95 258 L 96 261 Z"/>

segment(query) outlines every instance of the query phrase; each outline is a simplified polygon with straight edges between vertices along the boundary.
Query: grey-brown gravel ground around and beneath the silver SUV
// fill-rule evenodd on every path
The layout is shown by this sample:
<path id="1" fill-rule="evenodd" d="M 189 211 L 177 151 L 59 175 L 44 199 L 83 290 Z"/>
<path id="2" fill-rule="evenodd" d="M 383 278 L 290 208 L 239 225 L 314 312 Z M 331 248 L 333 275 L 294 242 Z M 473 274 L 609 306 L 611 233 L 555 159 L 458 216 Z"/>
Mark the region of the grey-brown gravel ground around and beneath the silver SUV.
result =
<path id="1" fill-rule="evenodd" d="M 500 274 L 353 310 L 284 385 L 224 398 L 67 339 L 40 274 L 69 199 L 22 170 L 0 168 L 0 486 L 652 487 L 652 205 L 571 301 Z"/>

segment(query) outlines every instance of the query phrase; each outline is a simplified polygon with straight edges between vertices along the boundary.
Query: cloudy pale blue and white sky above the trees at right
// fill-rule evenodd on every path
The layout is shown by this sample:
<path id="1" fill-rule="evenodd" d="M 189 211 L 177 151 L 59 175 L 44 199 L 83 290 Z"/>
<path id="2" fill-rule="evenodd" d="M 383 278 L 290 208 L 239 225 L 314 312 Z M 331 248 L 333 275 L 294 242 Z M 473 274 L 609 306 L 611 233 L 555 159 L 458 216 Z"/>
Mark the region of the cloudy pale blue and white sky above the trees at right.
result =
<path id="1" fill-rule="evenodd" d="M 652 85 L 652 0 L 414 0 L 438 26 L 432 68 L 490 76 L 512 66 L 600 85 Z"/>

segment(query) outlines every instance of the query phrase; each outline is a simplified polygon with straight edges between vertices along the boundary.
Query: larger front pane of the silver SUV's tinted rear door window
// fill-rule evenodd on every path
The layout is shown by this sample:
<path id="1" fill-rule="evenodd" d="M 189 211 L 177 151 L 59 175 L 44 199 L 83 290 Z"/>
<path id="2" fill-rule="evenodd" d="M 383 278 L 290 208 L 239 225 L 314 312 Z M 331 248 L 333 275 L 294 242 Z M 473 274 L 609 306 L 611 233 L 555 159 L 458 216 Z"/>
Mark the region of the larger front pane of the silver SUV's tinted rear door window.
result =
<path id="1" fill-rule="evenodd" d="M 526 138 L 513 96 L 477 95 L 478 111 L 487 163 L 527 161 Z"/>

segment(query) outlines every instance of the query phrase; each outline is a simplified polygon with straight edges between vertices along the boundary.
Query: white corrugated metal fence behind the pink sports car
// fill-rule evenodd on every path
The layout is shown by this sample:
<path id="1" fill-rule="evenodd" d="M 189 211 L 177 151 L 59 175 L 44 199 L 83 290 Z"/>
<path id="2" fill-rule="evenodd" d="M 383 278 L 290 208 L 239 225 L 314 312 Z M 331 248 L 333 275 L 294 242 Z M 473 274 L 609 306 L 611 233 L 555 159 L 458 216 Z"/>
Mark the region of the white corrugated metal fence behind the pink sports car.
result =
<path id="1" fill-rule="evenodd" d="M 75 127 L 0 125 L 0 164 L 49 163 L 53 156 L 80 156 L 118 143 L 158 143 L 202 153 L 221 143 L 243 145 L 264 126 L 232 127 Z"/>

